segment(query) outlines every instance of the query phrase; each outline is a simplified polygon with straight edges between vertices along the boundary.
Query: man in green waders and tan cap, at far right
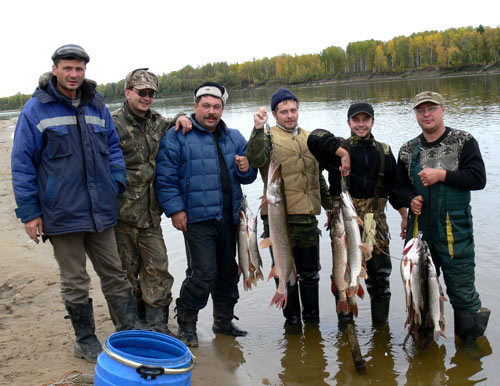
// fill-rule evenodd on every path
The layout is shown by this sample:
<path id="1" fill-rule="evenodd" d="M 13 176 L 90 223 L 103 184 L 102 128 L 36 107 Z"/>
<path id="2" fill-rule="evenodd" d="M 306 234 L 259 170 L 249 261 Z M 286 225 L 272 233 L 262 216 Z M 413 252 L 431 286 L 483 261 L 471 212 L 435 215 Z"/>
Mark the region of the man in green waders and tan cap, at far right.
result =
<path id="1" fill-rule="evenodd" d="M 471 341 L 484 335 L 490 310 L 474 285 L 470 191 L 486 185 L 484 162 L 469 133 L 446 127 L 443 97 L 431 91 L 413 100 L 422 134 L 399 151 L 396 190 L 410 208 L 407 240 L 423 233 L 455 315 L 455 334 Z"/>

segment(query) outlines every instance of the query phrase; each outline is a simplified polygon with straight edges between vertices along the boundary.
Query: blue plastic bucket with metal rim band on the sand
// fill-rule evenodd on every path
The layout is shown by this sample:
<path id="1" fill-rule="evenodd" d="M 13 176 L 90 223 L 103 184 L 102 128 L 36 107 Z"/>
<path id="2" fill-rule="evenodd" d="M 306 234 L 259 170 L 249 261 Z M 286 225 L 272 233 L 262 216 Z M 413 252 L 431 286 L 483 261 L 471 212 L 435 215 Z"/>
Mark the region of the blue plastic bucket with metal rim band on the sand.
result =
<path id="1" fill-rule="evenodd" d="M 120 331 L 109 336 L 97 358 L 96 386 L 191 385 L 194 356 L 171 336 Z"/>

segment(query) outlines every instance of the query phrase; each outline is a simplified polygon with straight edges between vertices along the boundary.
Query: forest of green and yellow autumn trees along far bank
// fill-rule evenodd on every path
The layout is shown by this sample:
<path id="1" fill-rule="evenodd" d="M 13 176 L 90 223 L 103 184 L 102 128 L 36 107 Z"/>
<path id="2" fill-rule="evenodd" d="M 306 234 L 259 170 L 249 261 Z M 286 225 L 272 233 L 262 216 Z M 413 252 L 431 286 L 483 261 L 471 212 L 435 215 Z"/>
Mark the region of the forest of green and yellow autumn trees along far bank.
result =
<path id="1" fill-rule="evenodd" d="M 388 42 L 364 40 L 341 47 L 327 47 L 319 54 L 280 55 L 244 63 L 207 63 L 185 66 L 158 77 L 159 96 L 192 91 L 212 80 L 228 89 L 291 85 L 342 79 L 356 74 L 398 74 L 417 69 L 460 71 L 481 69 L 498 63 L 500 27 L 450 28 L 397 36 Z M 107 102 L 123 98 L 123 82 L 98 86 Z M 20 109 L 30 95 L 0 98 L 0 110 Z"/>

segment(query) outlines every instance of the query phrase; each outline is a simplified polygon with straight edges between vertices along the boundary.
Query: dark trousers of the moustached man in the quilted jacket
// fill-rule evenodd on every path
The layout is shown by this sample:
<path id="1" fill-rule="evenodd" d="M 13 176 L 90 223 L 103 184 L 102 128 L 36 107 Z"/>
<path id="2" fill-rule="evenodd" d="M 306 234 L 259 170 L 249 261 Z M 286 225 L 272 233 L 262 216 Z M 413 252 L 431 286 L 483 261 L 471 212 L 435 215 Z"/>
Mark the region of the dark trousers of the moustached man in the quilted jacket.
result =
<path id="1" fill-rule="evenodd" d="M 234 306 L 239 298 L 236 225 L 230 211 L 222 220 L 188 224 L 184 232 L 188 268 L 177 305 L 201 310 L 208 296 L 214 303 Z"/>

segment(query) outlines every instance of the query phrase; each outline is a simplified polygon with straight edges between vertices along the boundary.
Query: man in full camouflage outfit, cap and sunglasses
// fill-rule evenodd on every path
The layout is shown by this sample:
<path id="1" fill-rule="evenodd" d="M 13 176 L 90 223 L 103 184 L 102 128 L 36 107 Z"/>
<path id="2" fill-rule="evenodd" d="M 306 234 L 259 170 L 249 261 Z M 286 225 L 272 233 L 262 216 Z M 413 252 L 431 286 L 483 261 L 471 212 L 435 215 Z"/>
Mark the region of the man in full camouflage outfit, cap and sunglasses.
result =
<path id="1" fill-rule="evenodd" d="M 127 189 L 118 196 L 115 226 L 118 253 L 134 287 L 139 321 L 145 328 L 170 334 L 169 305 L 174 278 L 160 227 L 162 209 L 154 189 L 156 156 L 163 134 L 174 125 L 184 130 L 191 121 L 182 114 L 164 118 L 151 109 L 158 78 L 147 68 L 125 78 L 125 101 L 112 112 L 127 167 Z"/>

